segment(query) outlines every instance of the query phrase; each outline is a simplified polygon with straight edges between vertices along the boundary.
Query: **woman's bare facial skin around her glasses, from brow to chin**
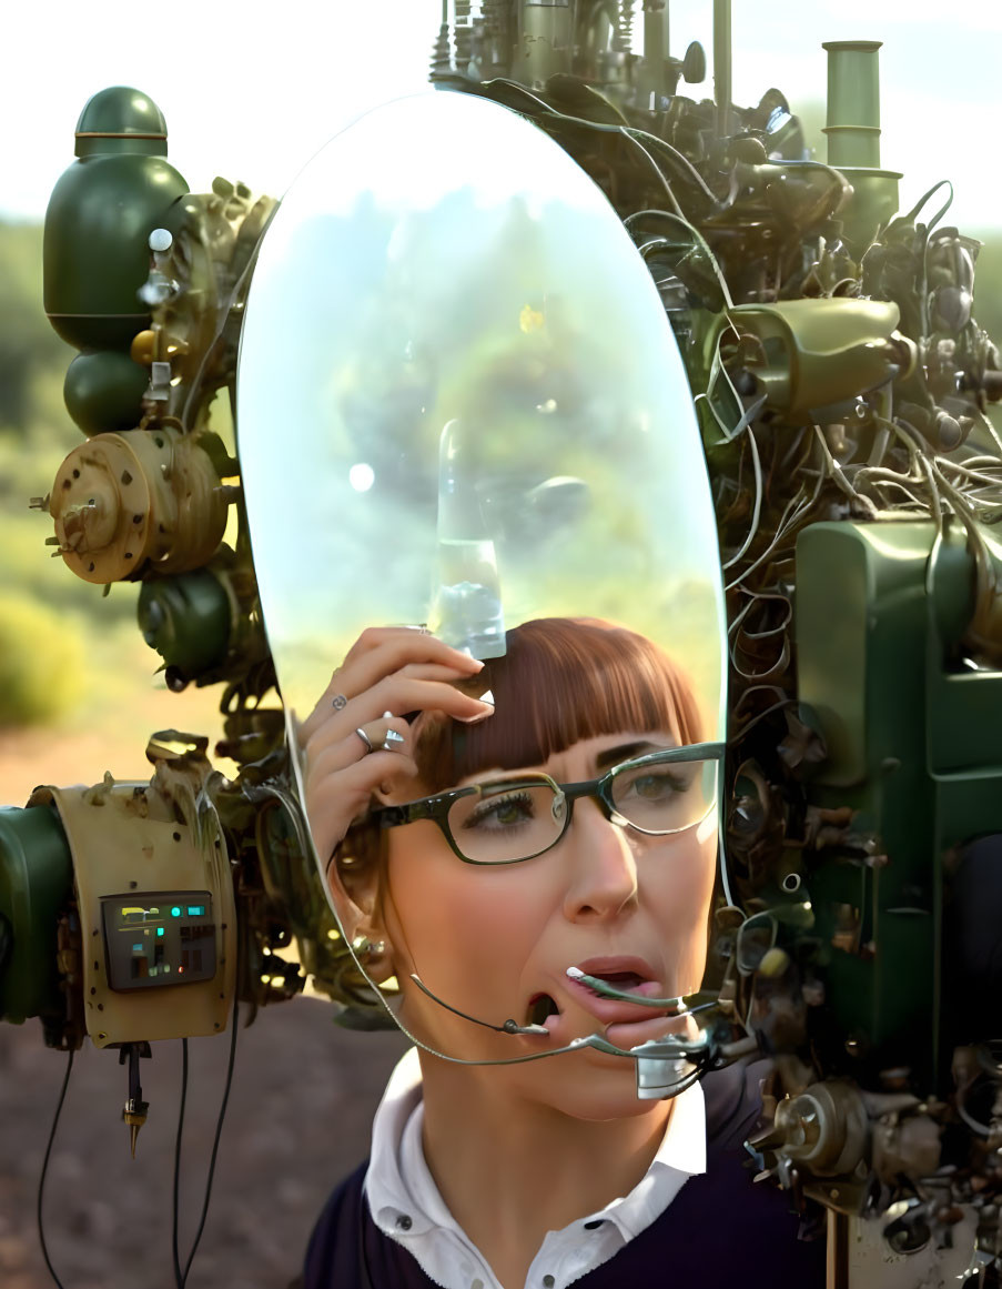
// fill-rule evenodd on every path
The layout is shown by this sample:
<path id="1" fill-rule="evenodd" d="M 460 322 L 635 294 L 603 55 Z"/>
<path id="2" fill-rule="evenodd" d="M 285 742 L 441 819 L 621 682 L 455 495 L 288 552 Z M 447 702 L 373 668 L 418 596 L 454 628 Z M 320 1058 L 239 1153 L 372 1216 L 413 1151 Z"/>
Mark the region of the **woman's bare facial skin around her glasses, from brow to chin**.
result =
<path id="1" fill-rule="evenodd" d="M 487 770 L 456 786 L 542 771 L 558 782 L 598 779 L 623 761 L 675 746 L 671 733 L 623 731 L 573 744 L 538 766 Z M 401 795 L 395 799 L 413 799 Z M 716 858 L 716 811 L 685 831 L 649 837 L 613 824 L 591 798 L 574 802 L 555 847 L 522 864 L 464 864 L 437 824 L 390 829 L 385 929 L 403 989 L 402 1020 L 430 1047 L 466 1060 L 556 1049 L 604 1034 L 632 1048 L 674 1026 L 635 1003 L 600 999 L 568 967 L 618 989 L 676 996 L 699 987 Z M 545 1020 L 546 1036 L 496 1034 L 426 998 L 492 1025 Z M 578 1118 L 639 1112 L 635 1063 L 582 1049 L 488 1071 Z M 649 1103 L 648 1103 L 649 1105 Z"/>

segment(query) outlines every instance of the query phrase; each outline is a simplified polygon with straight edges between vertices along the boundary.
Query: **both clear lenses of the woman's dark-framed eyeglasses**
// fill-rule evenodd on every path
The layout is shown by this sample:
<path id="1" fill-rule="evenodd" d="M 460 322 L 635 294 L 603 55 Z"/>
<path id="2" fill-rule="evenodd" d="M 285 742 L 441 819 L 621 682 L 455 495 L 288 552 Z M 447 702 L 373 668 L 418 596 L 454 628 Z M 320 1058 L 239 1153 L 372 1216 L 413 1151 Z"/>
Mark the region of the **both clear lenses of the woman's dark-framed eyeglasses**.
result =
<path id="1" fill-rule="evenodd" d="M 716 762 L 689 761 L 626 768 L 608 799 L 641 833 L 679 833 L 704 819 L 715 800 Z M 460 853 L 477 864 L 527 860 L 554 846 L 568 802 L 546 779 L 484 784 L 455 800 L 448 826 Z"/>

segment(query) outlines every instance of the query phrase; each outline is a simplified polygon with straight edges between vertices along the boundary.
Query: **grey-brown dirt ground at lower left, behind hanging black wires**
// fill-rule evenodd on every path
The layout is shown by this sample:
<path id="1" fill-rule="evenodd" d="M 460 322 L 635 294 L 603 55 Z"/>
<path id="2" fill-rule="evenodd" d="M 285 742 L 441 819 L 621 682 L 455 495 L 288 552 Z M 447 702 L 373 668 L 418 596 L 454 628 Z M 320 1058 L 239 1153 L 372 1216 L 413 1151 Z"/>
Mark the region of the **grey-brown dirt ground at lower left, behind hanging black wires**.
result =
<path id="1" fill-rule="evenodd" d="M 368 1151 L 372 1111 L 404 1043 L 357 1034 L 296 999 L 238 1031 L 209 1221 L 189 1289 L 285 1289 L 332 1185 Z M 197 1226 L 229 1040 L 192 1039 L 182 1163 L 182 1248 Z M 44 1289 L 39 1173 L 66 1056 L 37 1022 L 0 1025 L 0 1285 Z M 45 1185 L 45 1234 L 64 1289 L 173 1289 L 170 1231 L 180 1043 L 142 1063 L 149 1119 L 129 1158 L 116 1052 L 77 1053 Z"/>

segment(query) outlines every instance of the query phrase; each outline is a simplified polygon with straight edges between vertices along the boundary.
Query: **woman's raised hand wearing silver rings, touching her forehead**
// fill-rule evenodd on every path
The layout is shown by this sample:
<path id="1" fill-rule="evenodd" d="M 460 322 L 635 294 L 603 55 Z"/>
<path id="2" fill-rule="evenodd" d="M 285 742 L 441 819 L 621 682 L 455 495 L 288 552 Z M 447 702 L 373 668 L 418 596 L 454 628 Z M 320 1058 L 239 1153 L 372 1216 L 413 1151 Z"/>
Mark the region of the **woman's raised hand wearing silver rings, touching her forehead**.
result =
<path id="1" fill-rule="evenodd" d="M 452 684 L 482 668 L 477 659 L 415 628 L 362 632 L 299 730 L 307 817 L 322 861 L 368 808 L 373 791 L 416 779 L 406 714 L 444 712 L 464 722 L 491 715 L 489 703 Z"/>

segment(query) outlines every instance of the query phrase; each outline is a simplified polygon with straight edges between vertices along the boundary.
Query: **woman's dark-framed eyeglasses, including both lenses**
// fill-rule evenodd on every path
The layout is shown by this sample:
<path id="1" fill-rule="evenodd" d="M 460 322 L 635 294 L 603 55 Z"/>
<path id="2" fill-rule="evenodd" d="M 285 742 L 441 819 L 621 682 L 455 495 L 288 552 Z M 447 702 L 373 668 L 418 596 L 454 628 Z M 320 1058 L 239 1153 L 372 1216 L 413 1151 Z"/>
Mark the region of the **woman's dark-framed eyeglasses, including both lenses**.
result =
<path id="1" fill-rule="evenodd" d="M 385 806 L 371 819 L 380 828 L 430 819 L 465 864 L 520 864 L 544 855 L 571 826 L 580 797 L 596 800 L 613 824 L 668 837 L 699 824 L 715 807 L 724 751 L 723 742 L 666 748 L 581 784 L 558 784 L 542 773 L 497 779 Z"/>

